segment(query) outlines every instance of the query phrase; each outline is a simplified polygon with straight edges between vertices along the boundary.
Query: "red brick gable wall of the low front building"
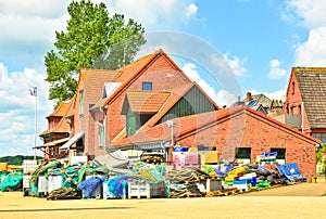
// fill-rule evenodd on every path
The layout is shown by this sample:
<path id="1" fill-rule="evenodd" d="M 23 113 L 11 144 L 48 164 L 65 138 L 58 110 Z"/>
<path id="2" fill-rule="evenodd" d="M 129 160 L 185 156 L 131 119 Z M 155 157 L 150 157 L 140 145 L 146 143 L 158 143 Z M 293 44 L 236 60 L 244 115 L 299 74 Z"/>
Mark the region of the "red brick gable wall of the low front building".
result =
<path id="1" fill-rule="evenodd" d="M 251 147 L 251 163 L 262 152 L 286 149 L 286 163 L 297 163 L 304 177 L 315 176 L 315 142 L 250 112 L 237 113 L 178 139 L 184 146 L 215 146 L 220 159 L 234 159 L 236 147 Z"/>

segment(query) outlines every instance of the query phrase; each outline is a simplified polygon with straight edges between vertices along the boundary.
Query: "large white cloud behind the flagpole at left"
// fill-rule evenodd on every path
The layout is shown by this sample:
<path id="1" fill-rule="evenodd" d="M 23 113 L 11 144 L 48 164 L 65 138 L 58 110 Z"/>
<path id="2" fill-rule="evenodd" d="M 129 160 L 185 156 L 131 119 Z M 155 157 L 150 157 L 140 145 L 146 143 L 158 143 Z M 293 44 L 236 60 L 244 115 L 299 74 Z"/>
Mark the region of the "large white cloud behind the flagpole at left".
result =
<path id="1" fill-rule="evenodd" d="M 0 63 L 0 154 L 33 154 L 35 132 L 35 98 L 29 89 L 38 87 L 38 130 L 47 128 L 45 117 L 52 111 L 53 103 L 48 101 L 48 85 L 45 76 L 34 69 L 9 73 Z M 38 143 L 40 143 L 39 138 Z"/>

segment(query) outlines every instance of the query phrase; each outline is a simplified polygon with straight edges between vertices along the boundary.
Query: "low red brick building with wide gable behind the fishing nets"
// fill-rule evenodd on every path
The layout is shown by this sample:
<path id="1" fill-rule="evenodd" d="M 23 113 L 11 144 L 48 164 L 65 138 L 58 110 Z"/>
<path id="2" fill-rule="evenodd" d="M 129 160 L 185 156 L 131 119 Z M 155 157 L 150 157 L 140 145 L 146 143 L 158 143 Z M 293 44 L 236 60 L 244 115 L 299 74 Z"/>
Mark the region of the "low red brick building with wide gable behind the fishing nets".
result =
<path id="1" fill-rule="evenodd" d="M 220 110 L 172 120 L 115 142 L 116 147 L 168 146 L 214 147 L 220 160 L 248 158 L 254 163 L 262 152 L 278 152 L 285 163 L 297 163 L 304 177 L 316 171 L 315 144 L 321 141 L 248 106 Z M 247 156 L 247 157 L 246 157 Z"/>

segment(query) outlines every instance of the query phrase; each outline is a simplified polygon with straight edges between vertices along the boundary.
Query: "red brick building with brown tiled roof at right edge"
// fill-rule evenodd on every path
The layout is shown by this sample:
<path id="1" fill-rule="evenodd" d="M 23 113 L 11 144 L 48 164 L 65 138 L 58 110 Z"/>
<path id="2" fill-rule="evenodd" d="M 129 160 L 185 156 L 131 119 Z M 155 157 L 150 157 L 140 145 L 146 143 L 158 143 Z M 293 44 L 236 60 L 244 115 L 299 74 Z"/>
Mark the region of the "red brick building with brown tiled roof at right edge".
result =
<path id="1" fill-rule="evenodd" d="M 326 68 L 293 67 L 283 113 L 297 115 L 306 133 L 326 142 Z"/>

